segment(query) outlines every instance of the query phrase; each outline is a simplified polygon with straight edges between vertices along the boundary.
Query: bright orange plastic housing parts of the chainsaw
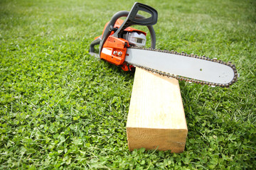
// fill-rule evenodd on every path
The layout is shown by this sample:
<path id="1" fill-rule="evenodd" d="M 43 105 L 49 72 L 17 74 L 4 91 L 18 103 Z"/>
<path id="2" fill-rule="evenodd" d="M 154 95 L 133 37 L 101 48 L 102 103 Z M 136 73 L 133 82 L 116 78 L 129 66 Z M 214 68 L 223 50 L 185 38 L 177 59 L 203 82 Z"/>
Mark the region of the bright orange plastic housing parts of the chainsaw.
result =
<path id="1" fill-rule="evenodd" d="M 114 24 L 114 28 L 119 28 L 123 22 L 124 21 L 122 19 L 118 19 L 117 22 Z M 106 29 L 107 24 L 108 23 L 106 23 L 104 30 Z M 104 33 L 104 30 L 103 30 L 103 33 Z M 125 31 L 127 32 L 136 31 L 138 33 L 143 33 L 144 35 L 146 35 L 144 31 L 137 30 L 131 27 L 126 28 Z M 114 31 L 112 31 L 110 36 L 107 38 L 105 44 L 103 45 L 102 52 L 100 53 L 100 58 L 107 60 L 107 62 L 110 62 L 117 66 L 121 66 L 124 71 L 129 71 L 133 66 L 127 65 L 127 63 L 124 62 L 124 59 L 127 56 L 127 47 L 129 47 L 129 42 L 128 40 L 125 40 L 123 38 L 116 38 L 112 36 L 113 34 L 114 34 Z"/>

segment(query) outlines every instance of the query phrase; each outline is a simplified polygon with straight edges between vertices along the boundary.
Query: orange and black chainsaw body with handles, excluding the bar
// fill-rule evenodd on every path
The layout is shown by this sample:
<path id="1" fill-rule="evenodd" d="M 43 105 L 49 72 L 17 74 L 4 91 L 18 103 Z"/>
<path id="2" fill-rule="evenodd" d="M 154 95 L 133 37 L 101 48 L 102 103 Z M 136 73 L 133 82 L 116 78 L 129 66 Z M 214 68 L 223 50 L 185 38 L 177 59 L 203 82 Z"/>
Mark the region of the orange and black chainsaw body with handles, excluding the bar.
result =
<path id="1" fill-rule="evenodd" d="M 138 11 L 147 12 L 151 16 L 145 18 L 137 14 Z M 125 21 L 119 19 L 123 16 L 127 16 Z M 127 56 L 127 47 L 130 45 L 144 47 L 146 45 L 146 33 L 130 26 L 147 26 L 151 34 L 151 48 L 154 48 L 156 45 L 156 35 L 152 25 L 156 22 L 157 11 L 154 8 L 145 4 L 135 3 L 131 11 L 119 11 L 112 16 L 110 22 L 105 24 L 102 35 L 92 41 L 90 54 L 121 66 L 124 71 L 129 71 L 133 66 L 124 62 Z M 99 55 L 95 53 L 95 45 L 100 45 Z"/>

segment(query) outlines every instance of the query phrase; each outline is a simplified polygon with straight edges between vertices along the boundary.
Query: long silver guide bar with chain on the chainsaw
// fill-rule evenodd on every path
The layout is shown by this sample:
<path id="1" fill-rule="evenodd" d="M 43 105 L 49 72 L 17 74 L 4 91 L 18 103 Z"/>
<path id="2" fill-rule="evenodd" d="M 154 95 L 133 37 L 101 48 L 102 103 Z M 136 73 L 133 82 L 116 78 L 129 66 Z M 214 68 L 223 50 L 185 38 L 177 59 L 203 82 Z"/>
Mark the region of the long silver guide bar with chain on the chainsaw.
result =
<path id="1" fill-rule="evenodd" d="M 208 85 L 230 86 L 237 79 L 233 64 L 223 64 L 220 60 L 216 62 L 203 57 L 175 55 L 171 52 L 127 48 L 125 62 L 165 72 L 164 74 L 174 74 L 174 77 L 178 75 L 195 82 L 208 82 Z"/>

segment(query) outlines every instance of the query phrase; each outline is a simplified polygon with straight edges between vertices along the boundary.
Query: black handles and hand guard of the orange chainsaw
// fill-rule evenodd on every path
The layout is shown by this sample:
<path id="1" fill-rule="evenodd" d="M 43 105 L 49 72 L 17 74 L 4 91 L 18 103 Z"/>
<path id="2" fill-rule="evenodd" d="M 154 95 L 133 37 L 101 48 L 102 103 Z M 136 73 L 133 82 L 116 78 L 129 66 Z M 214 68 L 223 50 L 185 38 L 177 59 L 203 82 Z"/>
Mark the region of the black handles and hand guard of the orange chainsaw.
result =
<path id="1" fill-rule="evenodd" d="M 145 18 L 142 15 L 137 14 L 139 11 L 145 11 L 151 14 L 151 17 Z M 117 38 L 121 38 L 122 32 L 125 28 L 133 25 L 147 26 L 149 29 L 149 33 L 151 35 L 151 48 L 156 47 L 156 33 L 154 31 L 153 25 L 157 22 L 157 11 L 151 6 L 147 6 L 141 3 L 136 2 L 134 6 L 132 6 L 132 10 L 129 11 L 119 11 L 112 16 L 110 23 L 108 23 L 107 27 L 104 30 L 102 36 L 93 40 L 90 44 L 90 53 L 93 54 L 95 52 L 94 46 L 100 44 L 99 53 L 102 51 L 102 47 L 105 44 L 107 38 L 110 36 L 111 32 L 114 30 L 114 24 L 116 23 L 118 18 L 127 17 L 122 26 L 114 33 L 114 36 Z"/>

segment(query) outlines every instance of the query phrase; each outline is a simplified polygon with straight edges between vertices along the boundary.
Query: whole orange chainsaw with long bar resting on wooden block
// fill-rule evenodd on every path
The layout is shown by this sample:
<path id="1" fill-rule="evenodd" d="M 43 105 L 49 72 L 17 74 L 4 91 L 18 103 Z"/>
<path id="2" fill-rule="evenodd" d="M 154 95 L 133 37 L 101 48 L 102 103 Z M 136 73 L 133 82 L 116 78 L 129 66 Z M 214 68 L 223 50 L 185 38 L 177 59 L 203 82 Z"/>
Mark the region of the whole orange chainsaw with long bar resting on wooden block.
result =
<path id="1" fill-rule="evenodd" d="M 139 11 L 148 13 L 146 18 Z M 121 20 L 121 17 L 127 17 Z M 216 58 L 158 50 L 153 25 L 157 11 L 151 6 L 136 2 L 131 11 L 119 11 L 105 24 L 102 35 L 90 44 L 90 55 L 122 67 L 124 71 L 140 67 L 150 72 L 178 80 L 228 87 L 238 80 L 239 74 L 231 62 Z M 146 48 L 146 33 L 130 26 L 146 26 L 151 36 L 151 47 Z M 99 52 L 95 52 L 99 45 Z"/>

